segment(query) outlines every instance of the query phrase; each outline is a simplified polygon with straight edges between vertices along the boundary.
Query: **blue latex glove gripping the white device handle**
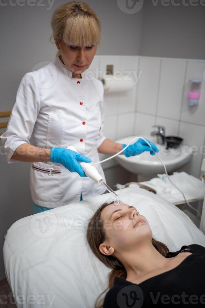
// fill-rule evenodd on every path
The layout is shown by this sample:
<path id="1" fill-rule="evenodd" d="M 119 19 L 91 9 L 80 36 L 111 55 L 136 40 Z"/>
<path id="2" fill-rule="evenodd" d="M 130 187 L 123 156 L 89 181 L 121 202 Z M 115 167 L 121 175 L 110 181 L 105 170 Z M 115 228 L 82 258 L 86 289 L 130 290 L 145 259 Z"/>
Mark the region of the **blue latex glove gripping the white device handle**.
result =
<path id="1" fill-rule="evenodd" d="M 92 160 L 83 154 L 65 148 L 52 148 L 50 151 L 51 162 L 63 165 L 70 172 L 77 172 L 81 177 L 87 177 L 78 162 L 91 162 Z"/>

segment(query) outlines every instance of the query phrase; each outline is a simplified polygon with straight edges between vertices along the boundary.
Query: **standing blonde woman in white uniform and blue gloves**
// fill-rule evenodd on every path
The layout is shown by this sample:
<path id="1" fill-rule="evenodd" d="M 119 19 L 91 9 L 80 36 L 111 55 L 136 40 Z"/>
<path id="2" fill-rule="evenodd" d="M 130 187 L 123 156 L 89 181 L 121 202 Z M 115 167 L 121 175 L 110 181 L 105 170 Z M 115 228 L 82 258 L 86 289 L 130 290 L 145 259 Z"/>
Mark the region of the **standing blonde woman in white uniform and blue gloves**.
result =
<path id="1" fill-rule="evenodd" d="M 24 75 L 1 135 L 8 163 L 31 162 L 34 213 L 102 194 L 105 188 L 88 178 L 78 161 L 94 163 L 98 152 L 115 154 L 125 146 L 103 135 L 103 84 L 85 73 L 101 40 L 96 13 L 85 2 L 68 2 L 55 9 L 51 27 L 55 61 Z M 158 149 L 150 144 L 140 139 L 123 154 L 154 155 Z M 95 167 L 105 178 L 101 165 Z"/>

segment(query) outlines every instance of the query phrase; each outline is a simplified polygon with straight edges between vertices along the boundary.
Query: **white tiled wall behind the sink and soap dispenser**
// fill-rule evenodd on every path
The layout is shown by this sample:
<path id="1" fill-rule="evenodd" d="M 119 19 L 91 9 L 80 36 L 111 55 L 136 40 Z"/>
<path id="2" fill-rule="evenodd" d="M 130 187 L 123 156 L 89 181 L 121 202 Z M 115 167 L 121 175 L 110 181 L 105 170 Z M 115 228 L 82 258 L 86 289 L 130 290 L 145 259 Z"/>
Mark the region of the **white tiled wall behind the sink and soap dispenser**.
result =
<path id="1" fill-rule="evenodd" d="M 102 76 L 108 64 L 113 64 L 114 72 L 130 71 L 134 84 L 130 91 L 104 94 L 104 134 L 113 141 L 127 135 L 150 135 L 152 126 L 161 124 L 166 135 L 178 135 L 186 144 L 201 148 L 180 169 L 198 177 L 205 157 L 205 60 L 95 56 L 89 69 L 98 69 L 96 76 Z M 189 78 L 202 79 L 199 104 L 193 107 L 187 104 Z M 101 160 L 108 156 L 100 154 Z M 103 168 L 116 164 L 113 159 L 103 163 Z"/>

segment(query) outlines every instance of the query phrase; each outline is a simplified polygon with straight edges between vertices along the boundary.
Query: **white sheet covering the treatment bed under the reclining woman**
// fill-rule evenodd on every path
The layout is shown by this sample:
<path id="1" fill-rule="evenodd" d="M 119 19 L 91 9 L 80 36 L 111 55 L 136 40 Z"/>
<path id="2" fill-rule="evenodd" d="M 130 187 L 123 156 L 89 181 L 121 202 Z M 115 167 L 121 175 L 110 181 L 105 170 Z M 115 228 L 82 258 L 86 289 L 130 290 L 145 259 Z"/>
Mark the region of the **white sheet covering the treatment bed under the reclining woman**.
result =
<path id="1" fill-rule="evenodd" d="M 170 251 L 182 245 L 205 247 L 205 235 L 171 202 L 136 187 L 117 190 L 124 203 L 144 215 L 155 239 Z M 5 235 L 5 272 L 17 307 L 94 308 L 108 286 L 110 268 L 89 249 L 89 218 L 109 194 L 24 217 Z"/>

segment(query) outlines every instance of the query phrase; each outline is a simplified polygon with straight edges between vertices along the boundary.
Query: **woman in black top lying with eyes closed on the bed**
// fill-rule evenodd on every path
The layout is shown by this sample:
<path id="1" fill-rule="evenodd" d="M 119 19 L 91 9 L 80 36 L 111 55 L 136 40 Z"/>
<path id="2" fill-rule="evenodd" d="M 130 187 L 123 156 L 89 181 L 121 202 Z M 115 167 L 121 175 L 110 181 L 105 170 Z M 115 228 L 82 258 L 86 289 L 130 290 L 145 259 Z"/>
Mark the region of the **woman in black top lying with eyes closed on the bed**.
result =
<path id="1" fill-rule="evenodd" d="M 88 223 L 87 241 L 112 269 L 104 292 L 109 290 L 95 307 L 205 307 L 205 247 L 183 245 L 169 252 L 135 207 L 103 203 Z"/>

